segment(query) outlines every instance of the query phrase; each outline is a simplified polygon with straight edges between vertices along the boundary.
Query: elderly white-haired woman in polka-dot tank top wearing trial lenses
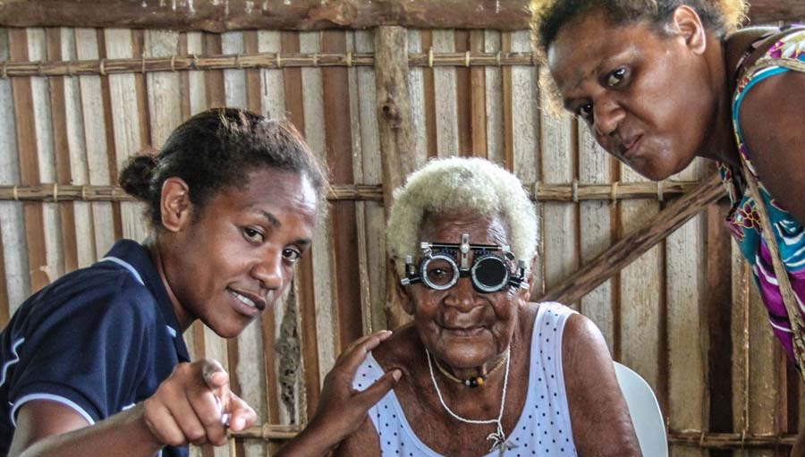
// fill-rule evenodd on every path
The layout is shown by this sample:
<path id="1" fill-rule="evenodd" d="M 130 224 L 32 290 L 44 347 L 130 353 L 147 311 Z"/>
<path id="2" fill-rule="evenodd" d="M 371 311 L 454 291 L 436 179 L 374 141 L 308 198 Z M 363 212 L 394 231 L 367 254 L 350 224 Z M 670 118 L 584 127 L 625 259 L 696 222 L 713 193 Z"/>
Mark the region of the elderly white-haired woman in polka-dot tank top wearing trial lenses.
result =
<path id="1" fill-rule="evenodd" d="M 479 158 L 428 162 L 395 192 L 388 227 L 413 319 L 353 386 L 403 376 L 336 455 L 640 455 L 597 327 L 529 302 L 538 221 L 512 173 Z"/>

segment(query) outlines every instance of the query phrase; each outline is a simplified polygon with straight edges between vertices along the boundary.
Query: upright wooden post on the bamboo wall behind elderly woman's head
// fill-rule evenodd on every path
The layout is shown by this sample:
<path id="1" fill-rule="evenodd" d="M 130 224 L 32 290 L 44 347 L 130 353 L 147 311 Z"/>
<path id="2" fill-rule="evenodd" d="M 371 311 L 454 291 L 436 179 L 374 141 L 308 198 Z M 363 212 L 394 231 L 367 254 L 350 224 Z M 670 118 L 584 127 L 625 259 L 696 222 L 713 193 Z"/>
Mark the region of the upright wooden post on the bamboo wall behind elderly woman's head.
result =
<path id="1" fill-rule="evenodd" d="M 408 31 L 402 27 L 375 30 L 375 84 L 377 87 L 377 127 L 383 164 L 383 197 L 386 217 L 393 201 L 392 192 L 416 168 L 411 132 L 411 96 L 408 89 Z M 393 266 L 388 265 L 388 297 L 394 287 Z M 386 304 L 389 328 L 405 317 L 398 303 Z"/>

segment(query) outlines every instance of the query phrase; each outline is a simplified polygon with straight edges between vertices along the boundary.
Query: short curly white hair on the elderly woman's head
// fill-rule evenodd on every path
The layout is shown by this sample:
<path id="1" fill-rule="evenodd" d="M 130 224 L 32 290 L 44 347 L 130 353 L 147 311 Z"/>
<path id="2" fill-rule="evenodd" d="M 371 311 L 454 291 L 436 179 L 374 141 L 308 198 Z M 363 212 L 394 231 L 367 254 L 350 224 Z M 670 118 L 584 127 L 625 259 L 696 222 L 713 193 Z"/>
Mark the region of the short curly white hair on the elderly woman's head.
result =
<path id="1" fill-rule="evenodd" d="M 405 274 L 405 256 L 419 254 L 419 226 L 428 214 L 470 211 L 499 216 L 507 226 L 510 249 L 531 264 L 537 253 L 537 211 L 513 173 L 478 157 L 430 160 L 394 190 L 386 247 L 397 273 Z"/>

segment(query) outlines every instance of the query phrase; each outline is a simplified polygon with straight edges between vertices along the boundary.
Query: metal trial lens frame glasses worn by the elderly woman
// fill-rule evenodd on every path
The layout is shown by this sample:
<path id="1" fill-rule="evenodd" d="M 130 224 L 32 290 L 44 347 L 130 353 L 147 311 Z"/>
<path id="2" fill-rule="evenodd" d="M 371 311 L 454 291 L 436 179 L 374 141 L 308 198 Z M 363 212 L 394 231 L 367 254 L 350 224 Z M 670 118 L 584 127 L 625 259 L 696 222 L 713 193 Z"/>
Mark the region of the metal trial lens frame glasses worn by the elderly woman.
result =
<path id="1" fill-rule="evenodd" d="M 470 244 L 470 235 L 464 233 L 460 244 L 423 241 L 419 249 L 422 251 L 419 269 L 411 256 L 405 256 L 402 285 L 422 283 L 436 291 L 445 291 L 458 283 L 459 278 L 470 276 L 472 286 L 484 293 L 498 292 L 506 286 L 529 287 L 525 260 L 519 260 L 515 271 L 510 272 L 509 265 L 514 255 L 508 246 Z M 475 253 L 472 267 L 470 251 Z"/>

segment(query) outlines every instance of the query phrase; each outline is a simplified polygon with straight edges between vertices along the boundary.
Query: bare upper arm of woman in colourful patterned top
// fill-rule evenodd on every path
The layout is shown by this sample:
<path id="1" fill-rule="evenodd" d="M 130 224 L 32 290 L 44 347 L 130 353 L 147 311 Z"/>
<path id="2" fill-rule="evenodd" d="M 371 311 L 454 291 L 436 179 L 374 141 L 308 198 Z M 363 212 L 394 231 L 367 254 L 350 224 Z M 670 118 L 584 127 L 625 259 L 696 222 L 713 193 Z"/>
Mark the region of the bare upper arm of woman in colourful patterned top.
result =
<path id="1" fill-rule="evenodd" d="M 805 73 L 758 82 L 744 97 L 739 120 L 760 181 L 805 225 Z"/>

